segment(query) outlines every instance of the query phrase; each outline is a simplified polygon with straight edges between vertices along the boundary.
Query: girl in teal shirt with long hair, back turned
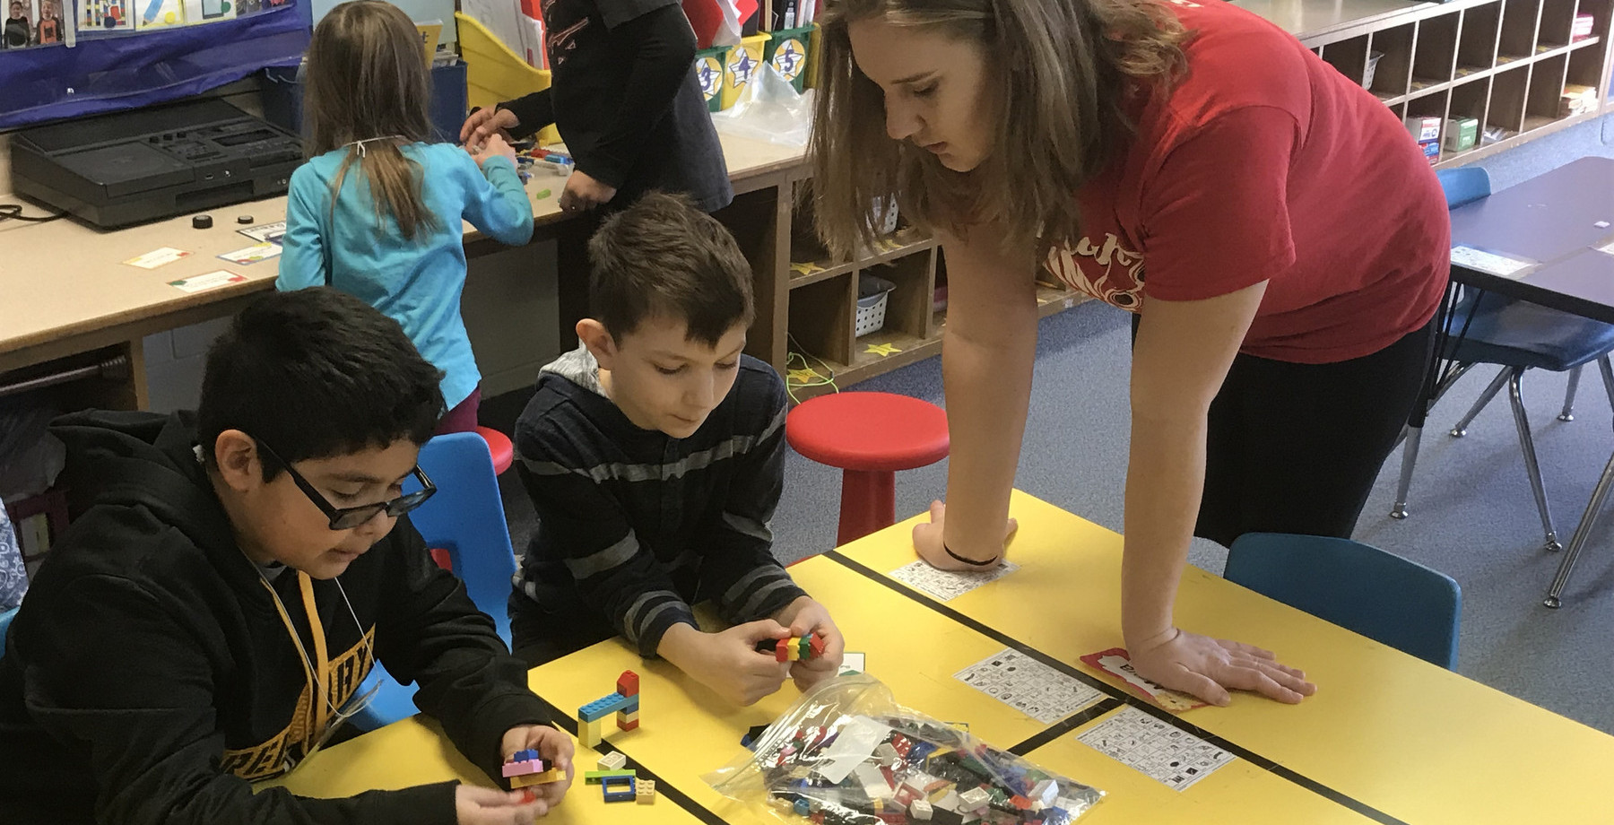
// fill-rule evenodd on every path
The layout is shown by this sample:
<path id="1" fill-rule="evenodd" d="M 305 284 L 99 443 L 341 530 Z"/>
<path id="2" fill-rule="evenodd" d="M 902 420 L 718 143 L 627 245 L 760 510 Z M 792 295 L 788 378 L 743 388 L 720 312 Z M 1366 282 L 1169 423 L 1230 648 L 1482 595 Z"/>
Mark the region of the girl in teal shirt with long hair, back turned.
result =
<path id="1" fill-rule="evenodd" d="M 312 160 L 292 173 L 281 291 L 329 284 L 404 325 L 442 370 L 439 433 L 476 426 L 481 373 L 460 320 L 462 220 L 510 245 L 533 237 L 515 152 L 426 144 L 431 76 L 415 24 L 391 3 L 331 10 L 308 45 Z M 376 365 L 386 368 L 386 365 Z"/>

